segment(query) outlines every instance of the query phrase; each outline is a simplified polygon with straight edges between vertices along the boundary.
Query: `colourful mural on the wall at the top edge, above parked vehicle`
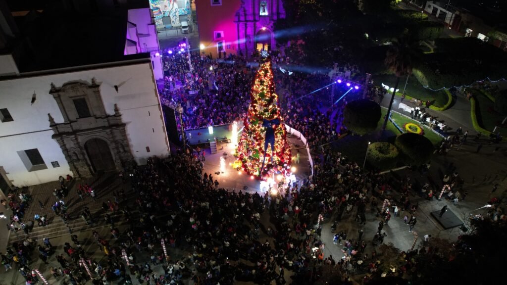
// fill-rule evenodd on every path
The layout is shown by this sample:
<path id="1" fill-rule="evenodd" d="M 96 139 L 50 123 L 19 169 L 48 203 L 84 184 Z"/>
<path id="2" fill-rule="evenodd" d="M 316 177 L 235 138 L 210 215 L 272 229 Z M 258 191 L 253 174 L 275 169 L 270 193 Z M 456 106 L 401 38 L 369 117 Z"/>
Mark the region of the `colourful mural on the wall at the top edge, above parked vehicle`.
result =
<path id="1" fill-rule="evenodd" d="M 164 25 L 164 17 L 171 19 L 171 26 L 180 26 L 179 16 L 191 15 L 190 0 L 150 0 L 150 8 L 157 26 Z"/>

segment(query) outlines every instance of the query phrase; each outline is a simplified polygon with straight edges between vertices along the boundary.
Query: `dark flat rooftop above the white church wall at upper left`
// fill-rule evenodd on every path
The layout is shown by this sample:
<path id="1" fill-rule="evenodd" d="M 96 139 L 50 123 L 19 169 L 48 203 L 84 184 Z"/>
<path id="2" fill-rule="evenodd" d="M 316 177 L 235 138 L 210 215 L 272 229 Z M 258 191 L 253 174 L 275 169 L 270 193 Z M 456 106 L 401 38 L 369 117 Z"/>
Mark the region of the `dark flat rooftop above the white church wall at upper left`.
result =
<path id="1" fill-rule="evenodd" d="M 12 53 L 20 73 L 149 58 L 124 55 L 127 11 L 71 13 L 54 5 L 30 10 L 14 17 L 19 33 L 4 53 Z"/>

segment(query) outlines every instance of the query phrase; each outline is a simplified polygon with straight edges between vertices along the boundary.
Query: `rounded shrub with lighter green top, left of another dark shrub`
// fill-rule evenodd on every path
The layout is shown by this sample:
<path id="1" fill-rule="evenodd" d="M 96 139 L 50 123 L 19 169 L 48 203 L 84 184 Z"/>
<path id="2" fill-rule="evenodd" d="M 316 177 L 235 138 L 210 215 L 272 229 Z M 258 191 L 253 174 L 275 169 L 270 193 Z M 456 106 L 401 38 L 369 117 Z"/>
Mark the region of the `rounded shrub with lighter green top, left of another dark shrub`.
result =
<path id="1" fill-rule="evenodd" d="M 373 142 L 368 147 L 368 164 L 380 170 L 392 169 L 398 161 L 398 149 L 389 142 Z"/>

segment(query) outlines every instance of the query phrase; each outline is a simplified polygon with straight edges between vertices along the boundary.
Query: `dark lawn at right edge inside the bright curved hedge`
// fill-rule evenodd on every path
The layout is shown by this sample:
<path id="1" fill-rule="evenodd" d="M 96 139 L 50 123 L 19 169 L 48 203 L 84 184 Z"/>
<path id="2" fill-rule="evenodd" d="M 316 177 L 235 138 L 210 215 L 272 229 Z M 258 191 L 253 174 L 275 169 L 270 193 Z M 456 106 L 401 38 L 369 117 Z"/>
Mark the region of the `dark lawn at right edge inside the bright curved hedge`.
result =
<path id="1" fill-rule="evenodd" d="M 477 121 L 480 126 L 488 131 L 493 131 L 495 126 L 500 126 L 505 116 L 502 116 L 495 112 L 493 109 L 494 103 L 481 92 L 474 90 L 476 98 L 477 108 Z M 500 131 L 500 135 L 503 137 L 507 136 L 507 128 L 498 127 L 496 129 Z"/>

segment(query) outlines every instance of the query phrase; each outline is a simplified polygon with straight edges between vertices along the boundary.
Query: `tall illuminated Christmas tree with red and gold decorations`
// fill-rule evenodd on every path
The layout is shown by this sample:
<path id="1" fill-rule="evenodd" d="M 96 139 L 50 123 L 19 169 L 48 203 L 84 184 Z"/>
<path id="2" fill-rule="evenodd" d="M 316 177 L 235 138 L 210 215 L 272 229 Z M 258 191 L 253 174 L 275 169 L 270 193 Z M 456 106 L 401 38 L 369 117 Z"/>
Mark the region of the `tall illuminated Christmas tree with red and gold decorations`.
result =
<path id="1" fill-rule="evenodd" d="M 289 174 L 291 148 L 278 108 L 270 58 L 264 53 L 250 90 L 250 106 L 236 150 L 243 171 L 259 179 Z"/>

